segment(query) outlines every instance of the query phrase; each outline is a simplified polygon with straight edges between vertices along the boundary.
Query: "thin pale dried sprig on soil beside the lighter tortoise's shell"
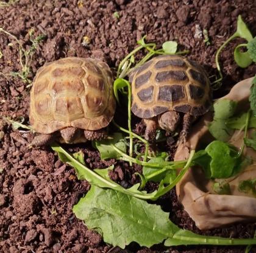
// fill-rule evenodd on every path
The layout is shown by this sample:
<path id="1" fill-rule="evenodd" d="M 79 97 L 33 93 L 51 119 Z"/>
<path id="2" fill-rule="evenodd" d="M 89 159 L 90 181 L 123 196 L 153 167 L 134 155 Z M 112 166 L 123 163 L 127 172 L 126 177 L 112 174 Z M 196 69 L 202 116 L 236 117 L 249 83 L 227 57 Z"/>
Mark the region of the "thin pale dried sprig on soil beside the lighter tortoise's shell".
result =
<path id="1" fill-rule="evenodd" d="M 34 56 L 35 50 L 37 49 L 38 44 L 45 38 L 45 35 L 39 35 L 34 37 L 34 29 L 29 30 L 29 40 L 32 43 L 28 50 L 24 49 L 20 40 L 16 38 L 16 36 L 12 35 L 11 33 L 7 32 L 6 30 L 0 27 L 0 33 L 5 33 L 6 35 L 10 36 L 13 40 L 18 43 L 19 46 L 19 53 L 20 53 L 20 65 L 21 71 L 18 72 L 10 72 L 10 74 L 2 74 L 4 76 L 12 76 L 12 77 L 19 77 L 21 78 L 24 83 L 27 83 L 27 88 L 31 86 L 32 81 L 29 79 L 30 74 L 30 65 L 32 58 Z"/>

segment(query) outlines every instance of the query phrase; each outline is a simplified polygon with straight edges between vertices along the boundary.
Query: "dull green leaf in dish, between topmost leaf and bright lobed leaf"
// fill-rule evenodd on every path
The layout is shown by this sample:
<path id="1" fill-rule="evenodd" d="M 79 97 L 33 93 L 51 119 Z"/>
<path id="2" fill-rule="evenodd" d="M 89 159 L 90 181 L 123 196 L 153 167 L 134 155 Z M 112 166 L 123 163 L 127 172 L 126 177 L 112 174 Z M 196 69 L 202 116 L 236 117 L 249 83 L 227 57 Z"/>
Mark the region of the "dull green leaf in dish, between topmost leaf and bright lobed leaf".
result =
<path id="1" fill-rule="evenodd" d="M 208 130 L 216 140 L 222 140 L 223 142 L 227 142 L 234 132 L 226 125 L 226 120 L 224 119 L 213 120 L 209 124 Z"/>

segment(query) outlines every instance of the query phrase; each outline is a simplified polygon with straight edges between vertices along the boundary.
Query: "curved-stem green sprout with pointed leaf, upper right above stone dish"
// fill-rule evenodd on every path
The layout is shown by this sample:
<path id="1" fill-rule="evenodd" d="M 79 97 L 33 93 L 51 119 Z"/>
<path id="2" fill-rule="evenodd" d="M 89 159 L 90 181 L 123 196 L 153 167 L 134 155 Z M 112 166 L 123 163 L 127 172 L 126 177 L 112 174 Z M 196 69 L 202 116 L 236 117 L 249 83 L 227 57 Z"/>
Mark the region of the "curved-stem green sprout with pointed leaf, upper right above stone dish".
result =
<path id="1" fill-rule="evenodd" d="M 244 44 L 244 43 L 239 44 L 235 48 L 234 58 L 235 58 L 236 63 L 238 64 L 238 66 L 240 66 L 241 68 L 246 68 L 247 66 L 249 66 L 249 64 L 252 63 L 253 59 L 255 60 L 255 54 L 256 54 L 256 49 L 255 49 L 256 45 L 255 45 L 255 43 L 256 43 L 256 41 L 254 40 L 253 42 L 251 42 L 253 40 L 252 33 L 247 28 L 246 24 L 244 23 L 243 19 L 241 18 L 241 15 L 239 15 L 238 20 L 237 20 L 236 32 L 233 33 L 233 35 L 230 36 L 221 45 L 221 47 L 219 47 L 219 49 L 216 52 L 215 62 L 216 62 L 216 66 L 217 66 L 217 69 L 218 69 L 218 72 L 219 72 L 219 78 L 217 80 L 213 81 L 212 84 L 213 84 L 214 88 L 219 88 L 219 86 L 221 86 L 220 81 L 223 78 L 222 73 L 221 73 L 221 67 L 219 65 L 219 54 L 221 53 L 221 50 L 224 49 L 224 47 L 226 47 L 227 44 L 230 41 L 232 41 L 234 38 L 243 38 L 248 42 L 247 44 Z M 247 47 L 248 51 L 247 52 L 240 52 L 240 47 L 244 47 L 244 46 Z"/>

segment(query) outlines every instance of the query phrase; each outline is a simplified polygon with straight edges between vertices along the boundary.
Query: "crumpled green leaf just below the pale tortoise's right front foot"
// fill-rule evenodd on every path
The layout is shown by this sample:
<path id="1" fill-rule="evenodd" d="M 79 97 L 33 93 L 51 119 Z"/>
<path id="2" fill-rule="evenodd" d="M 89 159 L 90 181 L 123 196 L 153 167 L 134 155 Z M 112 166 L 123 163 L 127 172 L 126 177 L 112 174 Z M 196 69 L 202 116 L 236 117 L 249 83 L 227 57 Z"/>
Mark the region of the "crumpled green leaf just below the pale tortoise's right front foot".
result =
<path id="1" fill-rule="evenodd" d="M 99 150 L 102 160 L 120 157 L 120 154 L 111 145 L 115 145 L 116 148 L 126 153 L 126 144 L 121 133 L 114 133 L 113 136 L 109 136 L 109 139 L 96 140 L 94 145 Z"/>

